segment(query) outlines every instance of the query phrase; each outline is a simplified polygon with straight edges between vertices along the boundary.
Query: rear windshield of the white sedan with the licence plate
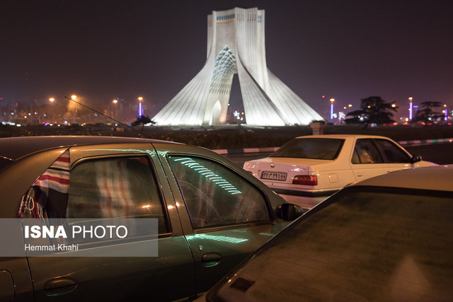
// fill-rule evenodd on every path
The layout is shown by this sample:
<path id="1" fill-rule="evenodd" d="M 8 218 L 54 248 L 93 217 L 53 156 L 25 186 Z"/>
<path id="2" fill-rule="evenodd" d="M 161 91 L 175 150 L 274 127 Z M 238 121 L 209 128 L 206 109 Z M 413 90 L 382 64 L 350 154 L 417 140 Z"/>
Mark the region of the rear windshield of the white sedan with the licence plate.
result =
<path id="1" fill-rule="evenodd" d="M 311 158 L 333 160 L 340 153 L 343 139 L 293 139 L 270 157 Z"/>

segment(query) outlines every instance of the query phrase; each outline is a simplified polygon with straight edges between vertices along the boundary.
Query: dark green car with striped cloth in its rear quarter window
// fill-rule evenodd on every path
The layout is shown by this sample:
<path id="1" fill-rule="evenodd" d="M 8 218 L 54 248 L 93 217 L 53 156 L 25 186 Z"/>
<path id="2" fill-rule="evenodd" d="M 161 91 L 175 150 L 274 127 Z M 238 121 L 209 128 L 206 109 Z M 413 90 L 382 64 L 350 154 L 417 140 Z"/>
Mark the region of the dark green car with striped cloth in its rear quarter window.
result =
<path id="1" fill-rule="evenodd" d="M 1 301 L 193 298 L 300 212 L 185 144 L 18 137 L 0 139 L 0 156 Z"/>

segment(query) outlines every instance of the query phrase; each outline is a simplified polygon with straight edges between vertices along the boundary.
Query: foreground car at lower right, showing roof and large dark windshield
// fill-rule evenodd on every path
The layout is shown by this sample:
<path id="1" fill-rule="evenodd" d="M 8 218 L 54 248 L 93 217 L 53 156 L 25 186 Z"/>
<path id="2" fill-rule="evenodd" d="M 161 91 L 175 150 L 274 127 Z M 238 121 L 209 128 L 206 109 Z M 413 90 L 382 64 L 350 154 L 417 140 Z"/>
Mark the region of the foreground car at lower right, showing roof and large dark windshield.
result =
<path id="1" fill-rule="evenodd" d="M 451 301 L 453 168 L 346 187 L 251 255 L 207 301 Z M 201 300 L 201 299 L 200 299 Z"/>

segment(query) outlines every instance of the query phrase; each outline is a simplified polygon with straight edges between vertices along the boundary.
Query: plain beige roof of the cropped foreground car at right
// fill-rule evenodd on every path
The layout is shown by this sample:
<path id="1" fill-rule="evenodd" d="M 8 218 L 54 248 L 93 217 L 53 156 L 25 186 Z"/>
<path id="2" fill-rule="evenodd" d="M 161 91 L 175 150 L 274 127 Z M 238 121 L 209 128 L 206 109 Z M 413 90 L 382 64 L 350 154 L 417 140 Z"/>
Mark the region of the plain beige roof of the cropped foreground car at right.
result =
<path id="1" fill-rule="evenodd" d="M 352 185 L 453 191 L 453 166 L 436 165 L 399 170 L 355 182 Z"/>

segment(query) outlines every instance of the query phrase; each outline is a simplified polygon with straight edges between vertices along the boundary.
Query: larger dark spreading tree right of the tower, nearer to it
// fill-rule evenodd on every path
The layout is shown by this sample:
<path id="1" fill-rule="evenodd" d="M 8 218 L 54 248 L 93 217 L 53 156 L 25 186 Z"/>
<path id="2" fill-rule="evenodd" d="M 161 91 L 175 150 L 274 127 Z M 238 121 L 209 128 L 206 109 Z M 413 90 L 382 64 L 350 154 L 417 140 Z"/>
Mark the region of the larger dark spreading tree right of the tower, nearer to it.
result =
<path id="1" fill-rule="evenodd" d="M 362 99 L 360 110 L 349 112 L 346 116 L 352 116 L 346 119 L 346 124 L 391 124 L 395 122 L 393 112 L 398 111 L 398 106 L 395 102 L 387 103 L 380 96 L 370 96 Z"/>

